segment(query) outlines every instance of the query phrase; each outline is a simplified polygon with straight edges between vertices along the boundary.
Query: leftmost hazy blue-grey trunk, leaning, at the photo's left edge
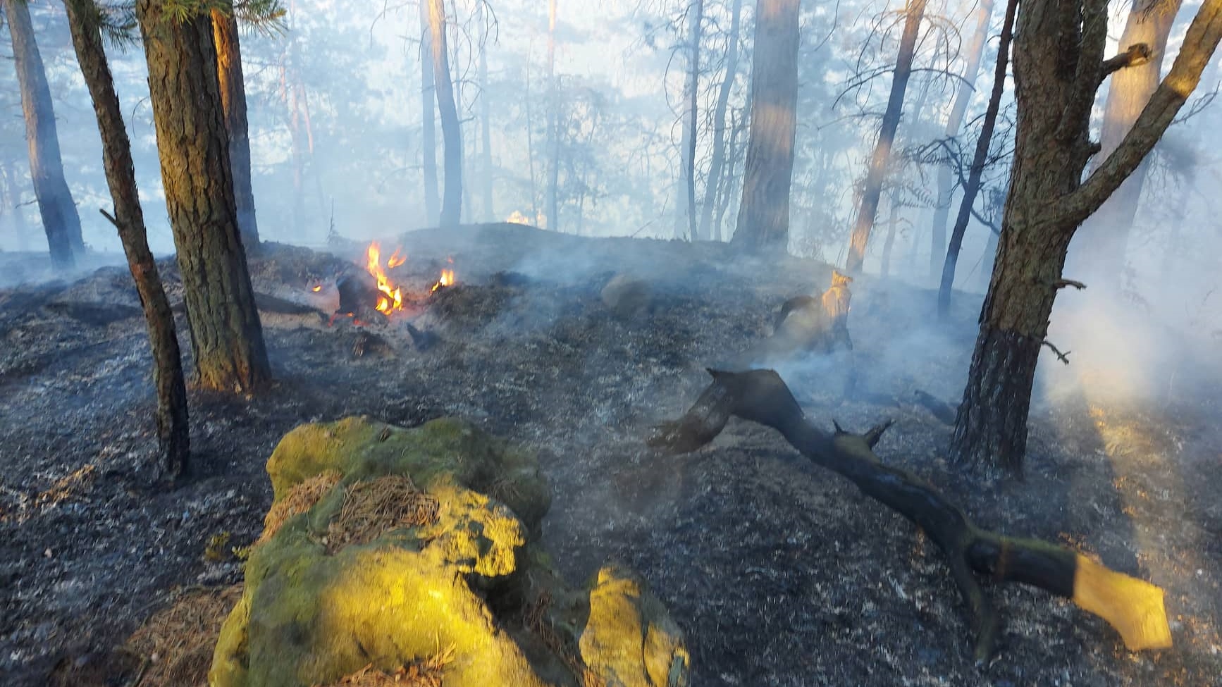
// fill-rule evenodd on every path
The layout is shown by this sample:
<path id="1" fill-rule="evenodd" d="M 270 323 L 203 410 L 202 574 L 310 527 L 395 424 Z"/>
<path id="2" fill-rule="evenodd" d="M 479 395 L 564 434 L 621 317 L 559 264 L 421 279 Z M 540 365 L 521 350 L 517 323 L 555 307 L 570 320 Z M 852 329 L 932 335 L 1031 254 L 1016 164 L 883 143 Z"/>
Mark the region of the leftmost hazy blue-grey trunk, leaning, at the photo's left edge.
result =
<path id="1" fill-rule="evenodd" d="M 55 268 L 76 265 L 84 253 L 81 237 L 81 215 L 60 156 L 60 138 L 55 126 L 55 106 L 46 84 L 46 71 L 34 39 L 34 24 L 24 0 L 4 0 L 9 33 L 12 35 L 13 64 L 21 87 L 21 109 L 26 119 L 26 143 L 29 147 L 29 177 L 34 183 L 38 211 L 46 231 L 46 244 Z"/>

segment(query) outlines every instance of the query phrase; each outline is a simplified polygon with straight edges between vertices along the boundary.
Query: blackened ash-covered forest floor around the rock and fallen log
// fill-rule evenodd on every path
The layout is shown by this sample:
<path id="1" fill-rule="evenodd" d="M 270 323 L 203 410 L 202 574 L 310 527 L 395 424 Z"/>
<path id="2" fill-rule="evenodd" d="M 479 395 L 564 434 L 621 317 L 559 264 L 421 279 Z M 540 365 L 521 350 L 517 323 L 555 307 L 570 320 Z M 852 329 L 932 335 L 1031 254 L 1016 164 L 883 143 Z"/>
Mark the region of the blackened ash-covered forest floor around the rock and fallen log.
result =
<path id="1" fill-rule="evenodd" d="M 855 395 L 841 394 L 843 357 L 781 369 L 827 427 L 893 418 L 879 455 L 978 524 L 1079 548 L 1167 592 L 1176 647 L 1134 654 L 1066 599 L 989 587 L 1004 631 L 976 667 L 941 554 L 906 520 L 744 422 L 687 456 L 645 446 L 705 386 L 704 367 L 769 335 L 787 297 L 821 292 L 827 265 L 516 225 L 413 232 L 382 249 L 400 244 L 408 260 L 391 275 L 419 299 L 414 326 L 439 337 L 426 350 L 407 318 L 329 326 L 316 310 L 284 312 L 332 308 L 331 285 L 360 269 L 363 244 L 265 247 L 252 275 L 279 299 L 263 312 L 277 384 L 251 400 L 192 392 L 193 472 L 176 485 L 154 461 L 150 357 L 126 268 L 0 291 L 0 682 L 104 664 L 175 588 L 240 581 L 237 561 L 205 550 L 220 533 L 226 546 L 258 535 L 276 441 L 364 413 L 402 425 L 462 416 L 536 449 L 561 568 L 574 582 L 607 559 L 639 571 L 687 633 L 693 685 L 1222 685 L 1222 394 L 1180 369 L 1199 352 L 1168 351 L 1176 374 L 1143 402 L 1110 392 L 1089 361 L 1074 384 L 1045 375 L 1059 377 L 1040 385 L 1022 482 L 947 465 L 948 425 L 913 402 L 916 390 L 957 402 L 979 297 L 959 296 L 940 324 L 932 292 L 859 280 Z M 458 285 L 425 298 L 446 258 Z M 172 260 L 163 268 L 181 303 Z M 649 281 L 651 307 L 605 307 L 617 273 Z M 181 308 L 178 328 L 188 351 Z"/>

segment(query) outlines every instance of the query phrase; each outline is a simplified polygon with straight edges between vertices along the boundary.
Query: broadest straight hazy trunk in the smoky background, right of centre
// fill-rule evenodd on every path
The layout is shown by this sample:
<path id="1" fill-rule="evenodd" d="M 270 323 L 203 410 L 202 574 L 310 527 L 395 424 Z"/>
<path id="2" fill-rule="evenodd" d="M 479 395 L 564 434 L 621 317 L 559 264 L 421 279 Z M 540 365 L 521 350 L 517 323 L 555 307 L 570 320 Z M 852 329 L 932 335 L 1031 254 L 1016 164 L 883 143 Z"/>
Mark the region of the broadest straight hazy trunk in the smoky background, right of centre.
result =
<path id="1" fill-rule="evenodd" d="M 731 240 L 739 248 L 788 249 L 797 106 L 798 0 L 756 0 L 750 137 Z"/>

